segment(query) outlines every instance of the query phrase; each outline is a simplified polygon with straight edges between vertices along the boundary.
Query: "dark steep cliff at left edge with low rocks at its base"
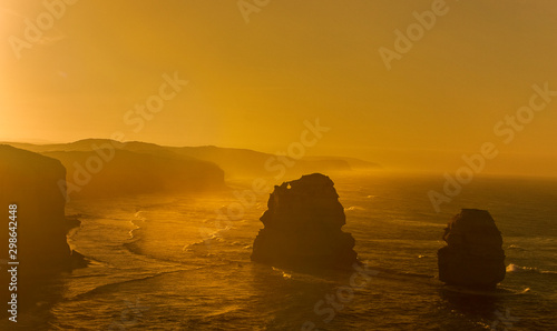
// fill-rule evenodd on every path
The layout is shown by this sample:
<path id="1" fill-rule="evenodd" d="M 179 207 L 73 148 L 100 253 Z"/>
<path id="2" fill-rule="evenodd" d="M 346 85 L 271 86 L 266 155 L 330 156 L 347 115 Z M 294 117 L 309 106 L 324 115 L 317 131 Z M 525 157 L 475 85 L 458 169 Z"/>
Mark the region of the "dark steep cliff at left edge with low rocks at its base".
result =
<path id="1" fill-rule="evenodd" d="M 36 302 L 53 300 L 49 284 L 60 272 L 84 267 L 86 261 L 68 245 L 66 234 L 77 220 L 65 217 L 66 169 L 60 161 L 33 152 L 0 146 L 0 208 L 3 215 L 0 242 L 6 251 L 0 263 L 0 294 L 9 298 L 17 293 L 18 307 L 33 308 Z M 17 204 L 16 223 L 9 224 L 9 205 Z M 17 253 L 18 265 L 8 265 L 8 239 L 17 225 L 17 242 L 10 254 Z M 17 267 L 17 292 L 9 291 L 12 282 L 7 269 Z M 11 297 L 10 297 L 11 298 Z M 0 312 L 6 315 L 7 310 Z"/>

